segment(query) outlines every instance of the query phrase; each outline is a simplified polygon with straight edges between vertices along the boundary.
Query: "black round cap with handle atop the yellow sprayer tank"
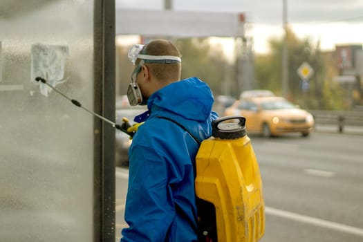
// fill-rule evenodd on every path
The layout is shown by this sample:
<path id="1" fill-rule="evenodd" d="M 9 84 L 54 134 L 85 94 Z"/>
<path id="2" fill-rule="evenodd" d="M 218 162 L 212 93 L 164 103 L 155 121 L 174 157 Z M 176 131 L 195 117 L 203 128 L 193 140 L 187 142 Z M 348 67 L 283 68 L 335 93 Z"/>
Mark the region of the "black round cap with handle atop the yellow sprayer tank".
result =
<path id="1" fill-rule="evenodd" d="M 212 121 L 212 136 L 223 140 L 242 138 L 246 135 L 245 118 L 225 116 Z"/>

